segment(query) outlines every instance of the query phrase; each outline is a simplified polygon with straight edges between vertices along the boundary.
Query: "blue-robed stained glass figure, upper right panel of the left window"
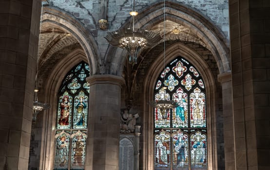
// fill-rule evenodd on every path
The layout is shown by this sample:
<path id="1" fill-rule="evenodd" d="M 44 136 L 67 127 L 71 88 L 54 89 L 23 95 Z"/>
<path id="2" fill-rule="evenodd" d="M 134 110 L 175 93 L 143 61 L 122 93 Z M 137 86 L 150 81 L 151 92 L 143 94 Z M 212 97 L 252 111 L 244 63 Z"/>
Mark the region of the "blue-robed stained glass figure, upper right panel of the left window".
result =
<path id="1" fill-rule="evenodd" d="M 87 125 L 88 97 L 81 91 L 75 97 L 73 129 L 85 129 Z"/>

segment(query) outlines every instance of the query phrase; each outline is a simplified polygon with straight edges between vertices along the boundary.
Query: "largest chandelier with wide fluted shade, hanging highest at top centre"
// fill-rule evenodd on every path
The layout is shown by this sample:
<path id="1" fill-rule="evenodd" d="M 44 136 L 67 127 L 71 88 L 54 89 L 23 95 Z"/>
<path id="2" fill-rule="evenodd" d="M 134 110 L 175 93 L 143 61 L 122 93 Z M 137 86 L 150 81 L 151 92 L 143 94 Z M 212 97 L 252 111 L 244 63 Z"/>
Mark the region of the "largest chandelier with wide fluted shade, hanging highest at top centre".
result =
<path id="1" fill-rule="evenodd" d="M 129 63 L 132 65 L 137 64 L 137 58 L 142 49 L 153 47 L 161 39 L 159 33 L 134 28 L 135 16 L 138 15 L 138 12 L 134 10 L 134 6 L 135 0 L 133 2 L 133 11 L 130 12 L 133 22 L 132 28 L 121 28 L 117 31 L 107 32 L 104 37 L 112 46 L 126 49 L 129 53 Z"/>

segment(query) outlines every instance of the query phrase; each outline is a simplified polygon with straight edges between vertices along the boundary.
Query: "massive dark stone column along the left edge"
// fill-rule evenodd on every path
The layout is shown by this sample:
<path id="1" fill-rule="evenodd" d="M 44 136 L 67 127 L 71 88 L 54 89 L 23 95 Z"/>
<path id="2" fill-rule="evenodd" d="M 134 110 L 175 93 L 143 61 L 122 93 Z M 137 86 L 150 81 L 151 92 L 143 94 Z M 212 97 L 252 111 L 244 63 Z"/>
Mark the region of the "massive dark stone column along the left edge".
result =
<path id="1" fill-rule="evenodd" d="M 27 170 L 41 0 L 0 1 L 0 170 Z"/>

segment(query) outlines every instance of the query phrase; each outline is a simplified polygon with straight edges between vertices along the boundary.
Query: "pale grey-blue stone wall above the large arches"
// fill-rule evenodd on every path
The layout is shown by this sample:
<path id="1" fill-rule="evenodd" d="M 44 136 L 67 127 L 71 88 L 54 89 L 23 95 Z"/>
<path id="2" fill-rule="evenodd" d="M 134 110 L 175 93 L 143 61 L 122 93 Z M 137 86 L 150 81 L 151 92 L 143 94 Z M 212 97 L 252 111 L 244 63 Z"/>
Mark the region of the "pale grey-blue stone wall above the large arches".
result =
<path id="1" fill-rule="evenodd" d="M 107 19 L 109 30 L 119 29 L 126 19 L 130 17 L 129 12 L 133 4 L 132 0 L 108 0 L 108 18 L 100 18 L 101 4 L 99 0 L 49 0 L 50 5 L 69 12 L 76 17 L 89 30 L 98 29 L 98 20 Z M 229 5 L 228 0 L 171 0 L 175 3 L 187 5 L 201 12 L 211 19 L 229 39 Z M 136 0 L 135 10 L 162 0 Z M 95 34 L 95 32 L 93 32 Z"/>

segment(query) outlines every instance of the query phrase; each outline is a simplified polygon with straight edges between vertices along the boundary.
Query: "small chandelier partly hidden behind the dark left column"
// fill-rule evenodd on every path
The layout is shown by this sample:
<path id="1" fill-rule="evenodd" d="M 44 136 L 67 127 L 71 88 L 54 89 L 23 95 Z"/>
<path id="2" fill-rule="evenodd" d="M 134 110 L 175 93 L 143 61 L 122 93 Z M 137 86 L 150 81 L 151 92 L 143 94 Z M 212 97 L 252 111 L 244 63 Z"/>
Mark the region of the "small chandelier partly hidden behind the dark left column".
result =
<path id="1" fill-rule="evenodd" d="M 50 108 L 51 106 L 47 103 L 38 101 L 38 92 L 39 92 L 38 89 L 35 89 L 34 92 L 35 92 L 35 96 L 34 96 L 34 102 L 33 102 L 33 119 L 32 120 L 36 121 L 39 112 L 42 110 L 46 110 Z"/>

